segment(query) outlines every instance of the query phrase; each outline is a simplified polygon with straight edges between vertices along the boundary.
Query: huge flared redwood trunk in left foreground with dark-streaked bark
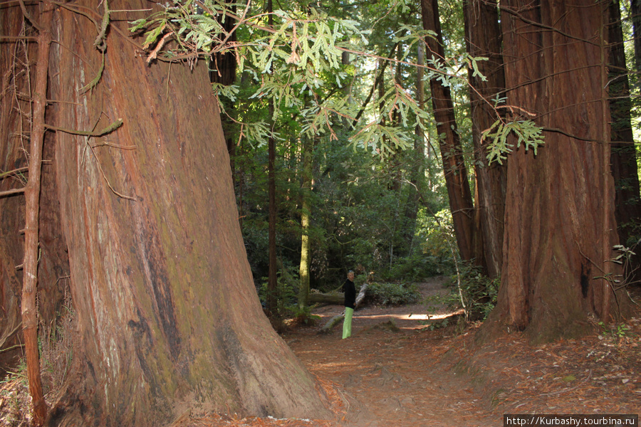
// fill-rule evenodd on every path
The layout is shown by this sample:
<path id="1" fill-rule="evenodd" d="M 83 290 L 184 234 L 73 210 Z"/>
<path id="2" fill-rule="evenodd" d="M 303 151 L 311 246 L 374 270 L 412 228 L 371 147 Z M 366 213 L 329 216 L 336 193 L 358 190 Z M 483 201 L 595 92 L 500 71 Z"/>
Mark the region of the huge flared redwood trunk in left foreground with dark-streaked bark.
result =
<path id="1" fill-rule="evenodd" d="M 95 15 L 95 2 L 72 7 L 81 6 Z M 256 296 L 205 64 L 147 65 L 111 28 L 100 83 L 81 95 L 102 61 L 95 26 L 59 14 L 58 127 L 124 124 L 100 138 L 57 132 L 80 343 L 78 376 L 50 424 L 157 426 L 187 408 L 327 416 Z M 120 12 L 123 27 L 140 14 Z"/>

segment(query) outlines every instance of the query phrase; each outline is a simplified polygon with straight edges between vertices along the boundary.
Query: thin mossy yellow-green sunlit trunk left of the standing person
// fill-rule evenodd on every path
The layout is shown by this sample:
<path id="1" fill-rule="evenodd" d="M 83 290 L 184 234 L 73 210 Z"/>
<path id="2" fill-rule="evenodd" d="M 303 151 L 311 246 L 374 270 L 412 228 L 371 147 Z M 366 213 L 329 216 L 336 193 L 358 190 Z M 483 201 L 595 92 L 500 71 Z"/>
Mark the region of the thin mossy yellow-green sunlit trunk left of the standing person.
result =
<path id="1" fill-rule="evenodd" d="M 313 179 L 313 139 L 301 137 L 303 142 L 303 182 L 301 185 L 301 265 L 298 274 L 301 288 L 298 290 L 298 308 L 306 307 L 309 296 L 309 264 L 311 261 L 309 222 L 311 219 L 311 190 Z"/>

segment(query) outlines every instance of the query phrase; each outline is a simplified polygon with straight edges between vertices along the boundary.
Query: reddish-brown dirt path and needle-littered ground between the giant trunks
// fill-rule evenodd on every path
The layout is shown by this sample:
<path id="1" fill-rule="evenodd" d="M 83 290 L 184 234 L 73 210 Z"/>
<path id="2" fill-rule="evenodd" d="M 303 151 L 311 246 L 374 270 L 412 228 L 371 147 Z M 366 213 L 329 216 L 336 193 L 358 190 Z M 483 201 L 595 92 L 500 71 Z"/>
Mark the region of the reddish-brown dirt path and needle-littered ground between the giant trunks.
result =
<path id="1" fill-rule="evenodd" d="M 512 334 L 479 347 L 475 327 L 455 334 L 455 325 L 428 330 L 421 323 L 451 314 L 434 303 L 448 292 L 443 282 L 420 285 L 427 305 L 357 310 L 350 339 L 341 339 L 340 325 L 318 334 L 339 306 L 316 310 L 318 327 L 283 334 L 308 369 L 338 386 L 346 404 L 335 425 L 501 426 L 504 413 L 641 410 L 639 320 L 628 322 L 624 337 L 595 334 L 533 348 Z"/>

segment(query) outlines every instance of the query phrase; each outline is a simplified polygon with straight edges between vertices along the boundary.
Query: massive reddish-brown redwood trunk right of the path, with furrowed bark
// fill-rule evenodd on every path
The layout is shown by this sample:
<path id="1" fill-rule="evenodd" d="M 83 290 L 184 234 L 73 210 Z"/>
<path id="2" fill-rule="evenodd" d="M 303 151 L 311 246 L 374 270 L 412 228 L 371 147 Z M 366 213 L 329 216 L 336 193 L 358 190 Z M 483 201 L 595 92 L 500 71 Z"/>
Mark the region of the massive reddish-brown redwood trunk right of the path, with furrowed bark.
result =
<path id="1" fill-rule="evenodd" d="M 607 7 L 592 0 L 501 1 L 504 56 L 511 58 L 507 103 L 514 114 L 536 113 L 547 131 L 538 155 L 521 147 L 509 159 L 501 288 L 483 334 L 509 325 L 532 342 L 576 337 L 590 330 L 588 316 L 609 322 L 625 304 L 599 278 L 617 273 L 608 260 L 618 241 Z"/>

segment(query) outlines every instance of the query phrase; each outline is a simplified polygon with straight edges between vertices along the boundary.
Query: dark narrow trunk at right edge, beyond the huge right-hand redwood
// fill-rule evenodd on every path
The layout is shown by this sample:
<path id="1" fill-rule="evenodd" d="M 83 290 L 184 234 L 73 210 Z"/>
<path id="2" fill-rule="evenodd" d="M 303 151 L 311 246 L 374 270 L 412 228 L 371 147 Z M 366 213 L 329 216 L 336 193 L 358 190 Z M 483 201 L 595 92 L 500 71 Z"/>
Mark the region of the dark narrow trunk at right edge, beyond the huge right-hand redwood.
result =
<path id="1" fill-rule="evenodd" d="M 619 1 L 612 0 L 610 7 L 610 114 L 612 115 L 612 174 L 615 183 L 615 218 L 617 231 L 622 245 L 634 246 L 641 238 L 641 200 L 635 139 L 632 135 L 630 110 L 630 83 L 627 78 L 621 11 Z M 638 252 L 639 246 L 632 248 Z M 641 277 L 640 255 L 632 255 L 625 266 L 627 282 L 635 282 Z"/>

